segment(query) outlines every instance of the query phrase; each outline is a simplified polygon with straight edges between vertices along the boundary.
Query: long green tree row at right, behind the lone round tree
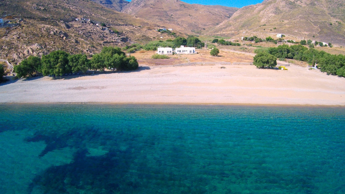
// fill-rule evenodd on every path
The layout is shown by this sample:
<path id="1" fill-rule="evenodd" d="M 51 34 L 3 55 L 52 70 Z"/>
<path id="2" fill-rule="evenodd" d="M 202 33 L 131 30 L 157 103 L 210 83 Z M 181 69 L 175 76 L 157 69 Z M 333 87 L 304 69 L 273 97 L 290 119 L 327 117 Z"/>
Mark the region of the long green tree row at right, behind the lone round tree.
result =
<path id="1" fill-rule="evenodd" d="M 325 51 L 319 51 L 314 48 L 307 48 L 302 45 L 279 45 L 278 47 L 270 47 L 267 50 L 256 49 L 256 53 L 267 52 L 277 58 L 295 59 L 305 61 L 309 64 L 315 65 L 322 72 L 328 75 L 337 75 L 345 77 L 345 56 L 332 55 Z"/>

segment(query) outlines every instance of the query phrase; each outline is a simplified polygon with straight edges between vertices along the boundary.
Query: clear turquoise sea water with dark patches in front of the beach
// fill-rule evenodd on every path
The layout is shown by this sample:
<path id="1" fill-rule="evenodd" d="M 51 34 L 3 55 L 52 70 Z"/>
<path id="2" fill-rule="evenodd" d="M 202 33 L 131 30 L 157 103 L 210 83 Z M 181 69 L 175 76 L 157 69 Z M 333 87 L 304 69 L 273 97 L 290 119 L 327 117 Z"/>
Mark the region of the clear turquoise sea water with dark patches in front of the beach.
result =
<path id="1" fill-rule="evenodd" d="M 0 105 L 0 193 L 345 193 L 345 109 Z"/>

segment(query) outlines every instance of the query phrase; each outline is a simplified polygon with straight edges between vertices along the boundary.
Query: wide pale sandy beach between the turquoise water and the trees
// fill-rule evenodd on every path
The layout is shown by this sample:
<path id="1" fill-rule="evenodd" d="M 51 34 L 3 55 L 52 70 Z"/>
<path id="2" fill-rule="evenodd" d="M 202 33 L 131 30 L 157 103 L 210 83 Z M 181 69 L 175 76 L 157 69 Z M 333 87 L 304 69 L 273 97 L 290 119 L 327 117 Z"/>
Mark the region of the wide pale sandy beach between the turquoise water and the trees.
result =
<path id="1" fill-rule="evenodd" d="M 287 68 L 139 67 L 134 72 L 19 79 L 0 85 L 0 103 L 345 105 L 345 78 Z"/>

